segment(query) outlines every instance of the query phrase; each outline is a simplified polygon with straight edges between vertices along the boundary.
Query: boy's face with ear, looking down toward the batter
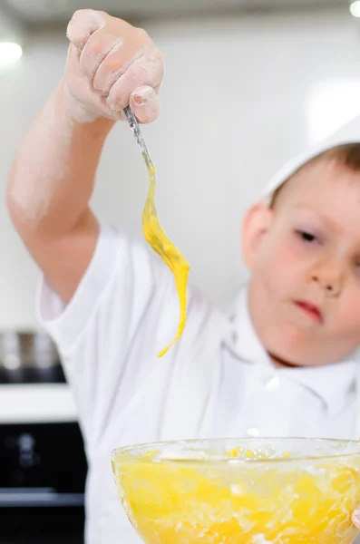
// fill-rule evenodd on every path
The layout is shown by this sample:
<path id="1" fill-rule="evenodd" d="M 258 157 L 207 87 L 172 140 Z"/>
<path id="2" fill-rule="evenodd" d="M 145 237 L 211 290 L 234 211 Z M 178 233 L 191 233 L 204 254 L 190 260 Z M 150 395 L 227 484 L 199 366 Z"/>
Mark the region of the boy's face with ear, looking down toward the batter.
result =
<path id="1" fill-rule="evenodd" d="M 277 363 L 340 361 L 360 344 L 360 173 L 321 159 L 274 209 L 248 212 L 249 309 Z"/>

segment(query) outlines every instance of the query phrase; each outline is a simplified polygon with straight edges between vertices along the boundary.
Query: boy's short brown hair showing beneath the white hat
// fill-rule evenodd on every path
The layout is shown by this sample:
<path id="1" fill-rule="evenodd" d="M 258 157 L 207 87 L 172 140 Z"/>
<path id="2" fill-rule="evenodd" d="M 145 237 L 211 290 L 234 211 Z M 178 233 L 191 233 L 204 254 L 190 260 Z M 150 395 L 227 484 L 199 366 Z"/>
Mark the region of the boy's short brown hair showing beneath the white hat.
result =
<path id="1" fill-rule="evenodd" d="M 316 157 L 313 157 L 313 159 L 309 160 L 301 166 L 294 174 L 290 176 L 284 183 L 278 187 L 274 193 L 271 196 L 270 199 L 270 208 L 274 208 L 278 195 L 280 194 L 281 190 L 284 188 L 284 186 L 287 184 L 287 181 L 291 180 L 294 176 L 297 175 L 297 173 L 305 168 L 308 165 L 315 164 L 317 160 L 334 160 L 336 164 L 340 166 L 344 166 L 345 168 L 352 170 L 354 172 L 360 172 L 360 142 L 359 143 L 345 143 L 343 145 L 338 145 L 334 148 L 331 148 L 329 150 L 323 151 L 319 155 L 316 155 Z"/>

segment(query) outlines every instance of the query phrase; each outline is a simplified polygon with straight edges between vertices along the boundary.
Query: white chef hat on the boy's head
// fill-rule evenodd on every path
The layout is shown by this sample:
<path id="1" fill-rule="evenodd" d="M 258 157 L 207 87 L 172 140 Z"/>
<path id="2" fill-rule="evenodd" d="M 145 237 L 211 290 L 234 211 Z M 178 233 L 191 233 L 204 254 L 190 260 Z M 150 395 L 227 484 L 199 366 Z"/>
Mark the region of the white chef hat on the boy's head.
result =
<path id="1" fill-rule="evenodd" d="M 299 153 L 296 157 L 289 160 L 280 170 L 277 170 L 277 173 L 268 181 L 262 195 L 263 199 L 271 198 L 271 195 L 295 174 L 299 168 L 304 166 L 306 162 L 314 159 L 324 151 L 331 150 L 332 148 L 346 143 L 360 143 L 360 116 L 355 117 L 355 119 L 345 124 L 329 138 L 326 138 L 325 141 L 317 143 L 316 145 L 307 148 L 306 151 Z"/>

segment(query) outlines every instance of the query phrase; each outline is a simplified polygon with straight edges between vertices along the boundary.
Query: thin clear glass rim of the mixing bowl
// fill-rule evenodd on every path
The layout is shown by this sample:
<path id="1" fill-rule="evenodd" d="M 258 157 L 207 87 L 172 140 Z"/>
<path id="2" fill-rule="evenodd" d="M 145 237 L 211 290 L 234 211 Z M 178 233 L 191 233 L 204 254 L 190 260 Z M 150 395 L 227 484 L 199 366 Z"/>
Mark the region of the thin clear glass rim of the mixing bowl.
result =
<path id="1" fill-rule="evenodd" d="M 145 457 L 140 455 L 133 455 L 129 457 L 127 455 L 128 452 L 131 452 L 131 450 L 141 450 L 144 448 L 147 448 L 150 452 L 156 451 L 157 447 L 164 448 L 164 446 L 174 446 L 174 445 L 190 445 L 192 444 L 201 444 L 203 442 L 204 444 L 211 444 L 211 443 L 219 443 L 219 442 L 248 442 L 249 444 L 251 442 L 261 442 L 261 441 L 273 441 L 273 442 L 279 442 L 279 441 L 285 441 L 285 442 L 319 442 L 324 444 L 329 443 L 344 443 L 345 445 L 357 445 L 358 446 L 358 452 L 346 452 L 346 453 L 331 453 L 331 454 L 324 454 L 324 455 L 304 455 L 299 457 L 274 457 L 270 459 L 254 459 L 254 458 L 246 458 L 246 459 L 238 459 L 236 457 L 229 457 L 229 459 L 167 459 L 164 458 L 157 458 L 154 459 L 153 457 Z M 270 444 L 269 444 L 270 445 Z M 156 464 L 157 466 L 161 464 L 185 464 L 194 466 L 197 464 L 201 465 L 216 465 L 216 464 L 229 464 L 229 465 L 242 465 L 242 464 L 276 464 L 276 463 L 298 463 L 302 461 L 329 461 L 329 460 L 337 460 L 337 459 L 344 459 L 344 458 L 360 458 L 360 440 L 347 440 L 347 439 L 341 439 L 341 438 L 309 438 L 309 437 L 267 437 L 267 436 L 261 436 L 261 437 L 243 437 L 243 438 L 214 438 L 214 439 L 189 439 L 189 440 L 171 440 L 171 441 L 160 441 L 160 442 L 143 442 L 139 444 L 132 444 L 128 446 L 122 446 L 121 448 L 115 448 L 112 450 L 112 461 L 115 460 L 123 460 L 123 461 L 131 461 L 131 462 L 138 462 L 142 464 Z"/>

